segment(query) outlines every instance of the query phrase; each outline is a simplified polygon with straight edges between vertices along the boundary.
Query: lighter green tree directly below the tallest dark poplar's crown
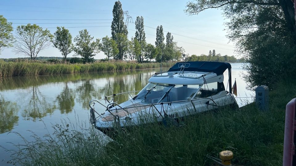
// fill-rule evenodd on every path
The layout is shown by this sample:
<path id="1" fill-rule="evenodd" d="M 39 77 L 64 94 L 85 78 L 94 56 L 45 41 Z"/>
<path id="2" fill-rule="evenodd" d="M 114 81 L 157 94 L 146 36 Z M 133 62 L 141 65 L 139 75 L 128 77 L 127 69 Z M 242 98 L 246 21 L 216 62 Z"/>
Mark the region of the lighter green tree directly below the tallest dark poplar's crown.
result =
<path id="1" fill-rule="evenodd" d="M 128 39 L 125 34 L 119 33 L 115 35 L 117 39 L 116 44 L 118 48 L 117 55 L 113 56 L 115 60 L 123 60 L 126 57 L 126 51 L 128 50 Z"/>

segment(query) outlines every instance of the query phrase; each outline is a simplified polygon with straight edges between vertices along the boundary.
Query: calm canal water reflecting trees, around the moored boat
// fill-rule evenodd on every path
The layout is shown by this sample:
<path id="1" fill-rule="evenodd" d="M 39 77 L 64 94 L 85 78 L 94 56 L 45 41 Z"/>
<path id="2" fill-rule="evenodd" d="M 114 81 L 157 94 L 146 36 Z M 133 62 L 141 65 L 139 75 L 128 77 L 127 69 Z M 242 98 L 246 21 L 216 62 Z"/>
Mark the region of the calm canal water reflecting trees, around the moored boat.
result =
<path id="1" fill-rule="evenodd" d="M 246 89 L 247 84 L 241 77 L 245 73 L 242 65 L 232 64 L 232 84 L 236 78 L 238 97 L 252 97 L 254 93 Z M 32 132 L 38 136 L 52 133 L 51 126 L 63 120 L 82 121 L 88 125 L 89 101 L 113 93 L 141 90 L 151 75 L 159 71 L 156 68 L 0 78 L 0 145 L 15 149 L 13 144 L 22 144 L 16 133 L 33 140 Z M 227 81 L 228 73 L 225 72 L 225 87 Z M 128 96 L 116 97 L 115 101 L 121 103 L 127 99 Z M 237 98 L 240 106 L 252 100 Z M 0 165 L 5 165 L 10 159 L 4 148 L 0 147 Z"/>

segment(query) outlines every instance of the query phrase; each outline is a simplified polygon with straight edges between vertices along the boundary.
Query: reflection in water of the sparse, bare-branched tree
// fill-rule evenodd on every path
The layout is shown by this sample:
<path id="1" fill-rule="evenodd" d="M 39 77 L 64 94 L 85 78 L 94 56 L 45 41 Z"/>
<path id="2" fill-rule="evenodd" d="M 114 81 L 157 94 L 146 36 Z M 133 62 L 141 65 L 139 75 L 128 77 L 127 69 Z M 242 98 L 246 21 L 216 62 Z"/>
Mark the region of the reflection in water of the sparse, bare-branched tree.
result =
<path id="1" fill-rule="evenodd" d="M 24 109 L 22 116 L 26 120 L 35 121 L 38 118 L 45 117 L 48 113 L 53 113 L 56 109 L 55 103 L 50 104 L 49 101 L 41 94 L 37 86 L 32 87 L 32 96 L 27 105 L 27 109 Z"/>

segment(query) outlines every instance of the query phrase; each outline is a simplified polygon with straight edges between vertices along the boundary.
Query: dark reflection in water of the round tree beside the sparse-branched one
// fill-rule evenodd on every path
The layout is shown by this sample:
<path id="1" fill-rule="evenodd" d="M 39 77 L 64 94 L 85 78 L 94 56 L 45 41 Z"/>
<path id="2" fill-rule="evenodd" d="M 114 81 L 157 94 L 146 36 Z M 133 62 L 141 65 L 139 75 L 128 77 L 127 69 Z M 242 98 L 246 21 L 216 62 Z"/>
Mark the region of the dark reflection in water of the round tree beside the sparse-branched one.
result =
<path id="1" fill-rule="evenodd" d="M 69 89 L 66 82 L 63 91 L 56 97 L 61 113 L 70 113 L 75 105 L 75 94 L 72 89 Z"/>

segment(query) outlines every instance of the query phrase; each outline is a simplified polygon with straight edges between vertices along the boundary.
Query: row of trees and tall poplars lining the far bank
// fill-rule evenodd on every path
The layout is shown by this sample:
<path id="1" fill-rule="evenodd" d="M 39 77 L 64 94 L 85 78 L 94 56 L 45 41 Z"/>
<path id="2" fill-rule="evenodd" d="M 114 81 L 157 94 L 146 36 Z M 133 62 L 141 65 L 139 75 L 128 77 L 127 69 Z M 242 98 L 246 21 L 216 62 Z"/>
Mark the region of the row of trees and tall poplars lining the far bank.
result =
<path id="1" fill-rule="evenodd" d="M 74 57 L 81 57 L 84 63 L 94 61 L 96 53 L 102 51 L 106 55 L 106 60 L 131 60 L 142 63 L 144 61 L 156 60 L 157 62 L 180 60 L 184 49 L 173 41 L 171 33 L 167 33 L 167 42 L 164 43 L 162 26 L 157 27 L 157 37 L 155 46 L 146 42 L 144 31 L 144 18 L 138 16 L 135 21 L 135 37 L 130 40 L 127 38 L 128 31 L 124 24 L 124 16 L 120 1 L 113 6 L 113 21 L 111 24 L 111 37 L 94 39 L 88 30 L 79 31 L 73 39 L 69 30 L 65 27 L 57 27 L 54 34 L 49 30 L 43 30 L 36 24 L 21 25 L 16 28 L 16 35 L 12 35 L 13 27 L 11 22 L 0 16 L 0 51 L 4 48 L 13 46 L 13 51 L 23 54 L 35 60 L 39 52 L 53 46 L 60 50 L 67 60 L 67 55 L 75 52 Z"/>

